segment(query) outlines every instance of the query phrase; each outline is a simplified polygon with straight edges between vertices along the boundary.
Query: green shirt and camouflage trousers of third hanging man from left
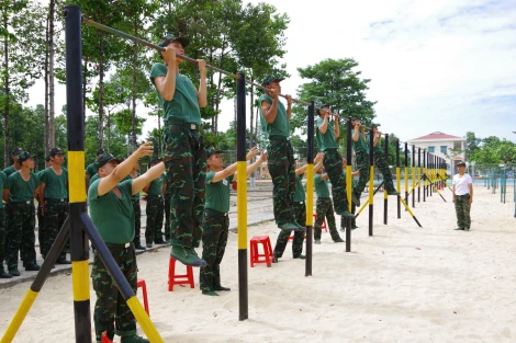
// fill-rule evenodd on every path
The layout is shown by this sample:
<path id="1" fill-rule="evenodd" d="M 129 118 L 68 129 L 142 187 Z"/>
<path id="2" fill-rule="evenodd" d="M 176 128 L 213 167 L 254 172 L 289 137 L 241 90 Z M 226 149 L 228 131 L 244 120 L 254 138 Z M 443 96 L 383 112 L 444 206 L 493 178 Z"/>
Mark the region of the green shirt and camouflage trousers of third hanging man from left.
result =
<path id="1" fill-rule="evenodd" d="M 349 215 L 349 204 L 346 196 L 346 178 L 343 172 L 343 157 L 338 152 L 337 140 L 335 137 L 335 127 L 332 122 L 328 121 L 326 133 L 323 135 L 318 127 L 323 124 L 323 118 L 317 118 L 315 138 L 317 141 L 317 148 L 324 152 L 324 168 L 328 174 L 329 181 L 332 182 L 332 195 L 335 203 L 335 211 L 338 215 Z"/>

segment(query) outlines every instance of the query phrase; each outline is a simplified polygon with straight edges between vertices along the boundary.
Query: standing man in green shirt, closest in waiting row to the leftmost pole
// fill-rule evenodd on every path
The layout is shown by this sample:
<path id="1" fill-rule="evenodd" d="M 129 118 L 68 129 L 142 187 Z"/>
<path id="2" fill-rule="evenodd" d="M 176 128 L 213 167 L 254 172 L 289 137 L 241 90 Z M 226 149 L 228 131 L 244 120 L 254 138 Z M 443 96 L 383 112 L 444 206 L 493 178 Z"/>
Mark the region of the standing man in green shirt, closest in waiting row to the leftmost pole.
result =
<path id="1" fill-rule="evenodd" d="M 45 218 L 44 253 L 46 256 L 54 244 L 66 217 L 68 217 L 68 171 L 61 168 L 65 155 L 58 147 L 51 150 L 52 167 L 41 173 L 40 203 L 42 215 Z M 66 260 L 66 251 L 61 251 L 57 264 L 70 264 Z"/>

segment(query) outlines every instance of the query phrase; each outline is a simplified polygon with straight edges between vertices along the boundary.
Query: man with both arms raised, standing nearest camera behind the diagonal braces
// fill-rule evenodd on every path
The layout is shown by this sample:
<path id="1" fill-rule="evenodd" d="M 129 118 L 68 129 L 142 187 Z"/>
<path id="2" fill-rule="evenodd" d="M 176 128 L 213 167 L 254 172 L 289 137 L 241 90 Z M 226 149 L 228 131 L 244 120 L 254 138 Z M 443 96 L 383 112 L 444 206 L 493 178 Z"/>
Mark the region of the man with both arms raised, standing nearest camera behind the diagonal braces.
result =
<path id="1" fill-rule="evenodd" d="M 88 191 L 91 219 L 135 294 L 137 268 L 133 244 L 134 211 L 131 197 L 150 181 L 159 178 L 165 171 L 165 165 L 158 163 L 142 176 L 123 180 L 141 157 L 152 155 L 150 142 L 143 144 L 120 164 L 111 153 L 104 152 L 98 159 L 100 179 L 91 183 Z M 113 340 L 115 333 L 122 336 L 121 343 L 148 343 L 148 340 L 136 335 L 134 316 L 98 251 L 93 256 L 91 278 L 97 294 L 93 312 L 97 342 L 101 341 L 102 333 L 106 331 L 110 340 Z"/>

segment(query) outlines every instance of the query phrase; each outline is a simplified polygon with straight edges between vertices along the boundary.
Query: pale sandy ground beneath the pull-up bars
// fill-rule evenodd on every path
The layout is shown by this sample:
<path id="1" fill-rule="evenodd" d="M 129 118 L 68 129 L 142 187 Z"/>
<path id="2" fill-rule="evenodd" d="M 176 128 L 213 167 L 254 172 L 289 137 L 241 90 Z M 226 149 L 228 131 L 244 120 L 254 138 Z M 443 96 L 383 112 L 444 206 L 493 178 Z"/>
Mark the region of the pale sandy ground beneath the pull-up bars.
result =
<path id="1" fill-rule="evenodd" d="M 442 191 L 448 203 L 436 194 L 416 203 L 423 228 L 404 210 L 396 218 L 394 197 L 383 225 L 383 195 L 377 195 L 374 236 L 368 236 L 367 209 L 352 231 L 352 252 L 324 232 L 312 277 L 289 244 L 280 263 L 249 267 L 245 321 L 238 321 L 236 235 L 222 263 L 223 285 L 233 290 L 220 297 L 201 295 L 199 270 L 195 289 L 169 293 L 169 249 L 138 255 L 150 319 L 165 342 L 516 342 L 515 204 L 501 204 L 483 186 L 474 192 L 470 232 L 453 230 L 449 190 Z M 248 230 L 249 238 L 269 235 L 276 242 L 273 222 Z M 1 334 L 29 286 L 0 289 Z M 92 289 L 91 299 L 93 308 Z M 14 342 L 75 342 L 69 274 L 46 282 Z"/>

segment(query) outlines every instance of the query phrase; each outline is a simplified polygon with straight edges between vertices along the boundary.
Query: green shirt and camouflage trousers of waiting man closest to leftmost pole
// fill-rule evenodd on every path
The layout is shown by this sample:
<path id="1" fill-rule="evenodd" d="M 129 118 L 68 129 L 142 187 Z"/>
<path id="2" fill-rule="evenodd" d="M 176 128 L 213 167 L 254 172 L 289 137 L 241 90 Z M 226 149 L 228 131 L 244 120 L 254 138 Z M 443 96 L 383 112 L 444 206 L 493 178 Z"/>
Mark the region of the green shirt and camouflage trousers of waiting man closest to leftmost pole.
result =
<path id="1" fill-rule="evenodd" d="M 40 244 L 43 244 L 42 254 L 46 256 L 68 217 L 68 171 L 61 168 L 58 175 L 51 167 L 41 172 L 40 179 L 45 184 L 45 233 Z M 66 251 L 61 251 L 57 263 L 65 262 Z"/>

